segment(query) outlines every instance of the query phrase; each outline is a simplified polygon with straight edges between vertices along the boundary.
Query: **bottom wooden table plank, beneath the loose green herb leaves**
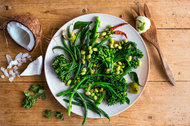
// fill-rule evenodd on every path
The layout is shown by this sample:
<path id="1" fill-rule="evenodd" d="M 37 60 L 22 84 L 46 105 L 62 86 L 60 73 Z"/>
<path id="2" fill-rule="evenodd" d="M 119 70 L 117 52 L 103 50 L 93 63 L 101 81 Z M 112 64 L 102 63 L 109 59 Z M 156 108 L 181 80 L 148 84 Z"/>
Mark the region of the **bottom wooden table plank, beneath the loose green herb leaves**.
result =
<path id="1" fill-rule="evenodd" d="M 31 109 L 21 107 L 23 91 L 33 83 L 0 83 L 0 124 L 4 125 L 73 125 L 82 123 L 83 118 L 62 107 L 50 93 L 46 83 L 47 99 L 39 100 Z M 188 125 L 190 123 L 189 82 L 177 82 L 173 88 L 166 82 L 149 82 L 139 100 L 128 110 L 111 117 L 109 122 L 104 119 L 87 119 L 86 125 Z M 159 92 L 157 91 L 159 90 Z M 43 111 L 51 109 L 63 112 L 65 120 L 43 117 Z"/>

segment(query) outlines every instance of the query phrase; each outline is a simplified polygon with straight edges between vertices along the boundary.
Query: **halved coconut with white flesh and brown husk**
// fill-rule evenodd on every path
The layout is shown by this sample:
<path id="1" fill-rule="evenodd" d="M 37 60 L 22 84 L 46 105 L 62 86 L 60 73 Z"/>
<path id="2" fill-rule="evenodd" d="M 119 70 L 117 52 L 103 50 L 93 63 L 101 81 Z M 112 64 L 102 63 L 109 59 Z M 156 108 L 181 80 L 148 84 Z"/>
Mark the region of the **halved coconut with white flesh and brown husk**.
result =
<path id="1" fill-rule="evenodd" d="M 7 31 L 17 44 L 27 49 L 28 51 L 32 51 L 37 47 L 42 36 L 42 27 L 40 21 L 32 14 L 18 15 L 15 16 L 12 20 L 9 20 L 7 23 Z M 29 35 L 25 37 L 24 34 Z M 22 43 L 20 43 L 20 41 L 22 41 Z M 27 44 L 29 43 L 28 45 L 30 45 L 30 47 L 27 48 L 27 44 L 23 44 L 25 41 Z"/>

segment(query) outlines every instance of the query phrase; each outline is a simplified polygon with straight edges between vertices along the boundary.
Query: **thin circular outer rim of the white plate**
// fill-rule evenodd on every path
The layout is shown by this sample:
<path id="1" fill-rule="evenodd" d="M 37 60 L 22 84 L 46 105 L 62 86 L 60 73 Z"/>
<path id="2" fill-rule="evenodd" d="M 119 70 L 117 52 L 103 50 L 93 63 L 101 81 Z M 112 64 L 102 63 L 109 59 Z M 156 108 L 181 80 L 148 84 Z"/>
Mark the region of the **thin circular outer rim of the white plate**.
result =
<path id="1" fill-rule="evenodd" d="M 75 18 L 73 18 L 73 19 L 67 21 L 66 23 L 64 23 L 64 24 L 55 32 L 55 34 L 56 34 L 65 24 L 69 23 L 69 22 L 72 21 L 72 20 L 75 20 L 76 18 L 79 18 L 79 17 L 81 17 L 81 16 L 99 15 L 99 14 L 107 15 L 107 16 L 112 16 L 112 17 L 114 17 L 114 18 L 119 18 L 119 17 L 116 17 L 116 16 L 114 16 L 114 15 L 105 14 L 105 13 L 88 13 L 88 14 L 83 14 L 83 15 L 77 16 L 77 17 L 75 17 Z M 126 23 L 128 23 L 127 21 L 123 20 L 122 18 L 119 18 L 119 19 L 122 20 L 122 21 L 124 21 L 124 22 L 126 22 Z M 129 107 L 123 109 L 123 110 L 120 111 L 120 112 L 114 113 L 114 114 L 111 115 L 110 117 L 113 117 L 113 116 L 115 116 L 115 115 L 118 115 L 118 114 L 120 114 L 120 113 L 126 111 L 127 109 L 129 109 L 131 106 L 133 106 L 133 105 L 138 101 L 138 99 L 141 97 L 142 93 L 144 92 L 144 90 L 145 90 L 145 88 L 146 88 L 146 85 L 147 85 L 147 82 L 148 82 L 148 78 L 149 78 L 149 74 L 150 74 L 150 58 L 149 58 L 148 48 L 147 48 L 147 46 L 146 46 L 146 44 L 145 44 L 143 38 L 142 38 L 141 35 L 136 31 L 136 29 L 135 29 L 132 25 L 130 25 L 129 23 L 128 23 L 128 25 L 133 29 L 133 31 L 135 31 L 135 32 L 138 34 L 140 40 L 142 41 L 142 43 L 143 43 L 143 45 L 144 45 L 144 47 L 145 47 L 146 52 L 147 52 L 147 61 L 148 61 L 148 62 L 147 62 L 147 63 L 148 63 L 148 67 L 147 67 L 147 77 L 146 77 L 146 79 L 145 79 L 145 84 L 144 84 L 144 86 L 143 86 L 143 88 L 142 88 L 142 91 L 140 92 L 139 96 L 134 100 L 134 102 L 133 102 L 132 104 L 130 104 Z M 55 34 L 53 35 L 53 37 L 55 36 Z M 53 37 L 52 37 L 52 38 L 53 38 Z M 46 57 L 47 57 L 47 50 L 48 50 L 48 47 L 49 47 L 49 45 L 50 45 L 50 43 L 51 43 L 51 41 L 52 41 L 52 38 L 51 38 L 51 40 L 50 40 L 50 42 L 49 42 L 49 44 L 48 44 L 48 46 L 47 46 L 47 49 L 46 49 L 46 52 L 45 52 L 45 57 L 44 57 L 44 63 L 43 63 L 43 64 L 44 64 L 44 74 L 45 74 L 46 83 L 47 83 L 47 85 L 48 85 L 49 90 L 51 91 L 51 94 L 53 95 L 52 89 L 50 88 L 50 86 L 49 86 L 49 84 L 48 84 L 48 81 L 47 81 L 47 77 L 46 77 Z M 56 99 L 56 96 L 55 96 L 55 95 L 53 95 L 53 97 Z M 57 99 L 56 99 L 56 101 L 57 101 L 61 106 L 63 106 L 66 110 L 68 109 L 68 108 L 66 108 L 64 105 L 62 105 Z M 72 112 L 72 111 L 71 111 L 71 112 Z M 72 112 L 72 113 L 74 113 L 74 112 Z M 74 113 L 74 114 L 79 115 L 79 114 L 77 114 L 77 113 Z M 79 115 L 79 116 L 84 116 L 84 115 Z M 87 117 L 87 118 L 106 118 L 106 117 L 101 116 L 101 117 Z"/>

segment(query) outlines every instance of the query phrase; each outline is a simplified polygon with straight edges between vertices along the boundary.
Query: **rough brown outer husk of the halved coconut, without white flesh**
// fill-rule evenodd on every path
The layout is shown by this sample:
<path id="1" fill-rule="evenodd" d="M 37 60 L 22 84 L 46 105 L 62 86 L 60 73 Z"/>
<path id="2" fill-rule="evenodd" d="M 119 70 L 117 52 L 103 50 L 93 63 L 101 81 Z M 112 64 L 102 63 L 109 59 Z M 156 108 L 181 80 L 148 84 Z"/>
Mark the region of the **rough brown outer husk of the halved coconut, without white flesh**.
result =
<path id="1" fill-rule="evenodd" d="M 31 51 L 33 51 L 39 42 L 41 41 L 42 36 L 42 27 L 38 18 L 34 17 L 32 14 L 27 13 L 23 15 L 17 15 L 13 19 L 9 20 L 7 24 L 11 21 L 16 21 L 27 27 L 35 38 L 35 46 Z"/>

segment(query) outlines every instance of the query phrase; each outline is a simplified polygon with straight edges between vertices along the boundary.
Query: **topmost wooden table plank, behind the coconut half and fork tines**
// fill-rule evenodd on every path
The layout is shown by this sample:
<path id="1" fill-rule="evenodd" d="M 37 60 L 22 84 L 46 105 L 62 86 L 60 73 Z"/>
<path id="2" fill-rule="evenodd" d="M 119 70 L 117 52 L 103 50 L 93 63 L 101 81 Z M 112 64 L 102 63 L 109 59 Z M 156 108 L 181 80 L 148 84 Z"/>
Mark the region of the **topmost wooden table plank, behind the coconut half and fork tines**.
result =
<path id="1" fill-rule="evenodd" d="M 59 28 L 67 21 L 87 13 L 106 13 L 134 24 L 130 9 L 147 3 L 158 28 L 189 28 L 189 0 L 1 0 L 0 15 L 14 16 L 30 12 L 37 16 L 45 29 Z M 186 13 L 184 13 L 186 12 Z"/>

